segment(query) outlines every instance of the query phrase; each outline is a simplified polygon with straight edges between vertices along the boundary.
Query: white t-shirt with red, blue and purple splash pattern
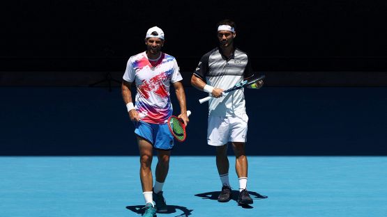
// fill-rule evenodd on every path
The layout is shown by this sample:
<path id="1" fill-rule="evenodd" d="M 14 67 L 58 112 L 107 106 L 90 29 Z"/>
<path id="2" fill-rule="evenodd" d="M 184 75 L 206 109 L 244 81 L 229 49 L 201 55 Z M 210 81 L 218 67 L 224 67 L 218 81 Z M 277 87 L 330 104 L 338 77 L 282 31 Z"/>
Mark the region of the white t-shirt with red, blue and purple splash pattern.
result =
<path id="1" fill-rule="evenodd" d="M 183 80 L 173 56 L 161 53 L 158 59 L 151 60 L 146 51 L 131 56 L 123 79 L 136 83 L 135 109 L 142 121 L 153 124 L 167 122 L 172 115 L 170 83 Z"/>

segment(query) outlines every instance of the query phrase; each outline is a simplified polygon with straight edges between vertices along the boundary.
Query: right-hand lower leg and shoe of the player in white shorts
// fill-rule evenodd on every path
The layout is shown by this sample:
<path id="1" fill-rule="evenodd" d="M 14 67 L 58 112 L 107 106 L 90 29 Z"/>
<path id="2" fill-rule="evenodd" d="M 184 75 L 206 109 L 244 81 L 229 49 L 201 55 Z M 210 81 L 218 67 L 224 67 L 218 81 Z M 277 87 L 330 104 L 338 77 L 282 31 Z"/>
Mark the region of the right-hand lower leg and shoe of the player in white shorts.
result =
<path id="1" fill-rule="evenodd" d="M 248 157 L 245 154 L 245 143 L 233 142 L 235 153 L 235 170 L 239 179 L 239 204 L 252 204 L 252 199 L 247 191 L 248 182 Z"/>

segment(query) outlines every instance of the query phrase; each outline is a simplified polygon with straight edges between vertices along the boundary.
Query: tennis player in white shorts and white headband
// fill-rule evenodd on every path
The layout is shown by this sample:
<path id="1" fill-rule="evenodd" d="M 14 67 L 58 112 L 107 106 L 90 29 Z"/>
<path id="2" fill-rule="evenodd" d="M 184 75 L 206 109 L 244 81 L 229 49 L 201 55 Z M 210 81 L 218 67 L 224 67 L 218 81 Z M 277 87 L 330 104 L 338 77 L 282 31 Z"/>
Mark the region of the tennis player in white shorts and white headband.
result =
<path id="1" fill-rule="evenodd" d="M 238 204 L 252 204 L 247 190 L 248 159 L 245 155 L 245 143 L 248 115 L 245 111 L 243 88 L 225 95 L 222 91 L 232 88 L 244 78 L 252 77 L 254 73 L 248 55 L 234 47 L 235 22 L 224 19 L 217 27 L 219 46 L 202 56 L 192 74 L 191 84 L 213 96 L 208 102 L 207 143 L 216 149 L 216 166 L 222 182 L 218 201 L 228 202 L 232 199 L 227 159 L 227 144 L 231 143 L 239 179 Z M 257 81 L 250 88 L 260 88 L 262 85 L 262 81 Z"/>

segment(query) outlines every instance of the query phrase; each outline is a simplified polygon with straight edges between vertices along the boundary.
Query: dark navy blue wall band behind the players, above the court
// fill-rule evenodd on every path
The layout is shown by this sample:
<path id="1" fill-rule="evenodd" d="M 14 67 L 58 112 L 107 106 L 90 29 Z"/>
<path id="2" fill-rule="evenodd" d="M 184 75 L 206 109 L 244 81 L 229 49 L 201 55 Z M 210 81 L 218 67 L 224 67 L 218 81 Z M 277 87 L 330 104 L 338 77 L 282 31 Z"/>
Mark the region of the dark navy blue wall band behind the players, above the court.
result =
<path id="1" fill-rule="evenodd" d="M 205 94 L 185 92 L 192 116 L 174 154 L 213 154 L 207 105 L 197 102 Z M 387 154 L 387 88 L 266 87 L 245 95 L 250 155 Z M 118 88 L 0 88 L 0 99 L 0 155 L 137 154 Z"/>

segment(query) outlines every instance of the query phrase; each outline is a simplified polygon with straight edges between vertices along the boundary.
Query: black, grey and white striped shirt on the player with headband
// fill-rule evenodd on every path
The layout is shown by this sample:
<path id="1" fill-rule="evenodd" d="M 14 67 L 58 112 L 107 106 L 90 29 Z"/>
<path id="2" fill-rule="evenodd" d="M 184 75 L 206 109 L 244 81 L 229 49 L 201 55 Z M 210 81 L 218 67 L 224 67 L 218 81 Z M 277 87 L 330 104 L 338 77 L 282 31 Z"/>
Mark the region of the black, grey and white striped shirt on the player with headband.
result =
<path id="1" fill-rule="evenodd" d="M 243 81 L 243 78 L 251 77 L 254 73 L 248 54 L 236 48 L 234 54 L 227 58 L 217 47 L 202 56 L 194 74 L 206 81 L 209 86 L 227 90 Z M 208 115 L 223 117 L 241 116 L 244 113 L 243 88 L 226 93 L 224 97 L 211 98 L 208 104 Z"/>

